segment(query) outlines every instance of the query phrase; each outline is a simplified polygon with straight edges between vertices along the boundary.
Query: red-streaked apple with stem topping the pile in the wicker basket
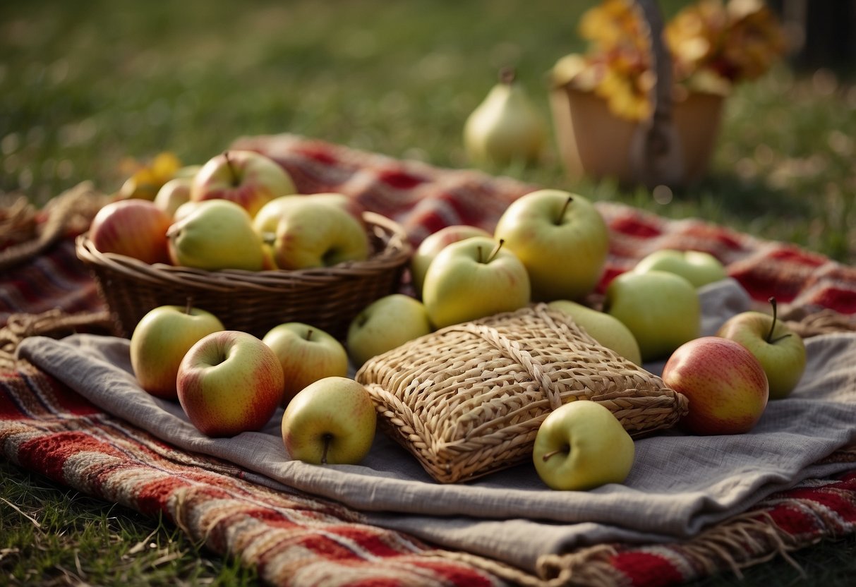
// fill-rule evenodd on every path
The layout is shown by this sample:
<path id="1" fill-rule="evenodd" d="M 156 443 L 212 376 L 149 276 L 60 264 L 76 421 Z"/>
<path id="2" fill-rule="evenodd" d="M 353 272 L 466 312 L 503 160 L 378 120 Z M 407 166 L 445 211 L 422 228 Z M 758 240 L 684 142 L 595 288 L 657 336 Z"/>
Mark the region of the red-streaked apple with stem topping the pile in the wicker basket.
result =
<path id="1" fill-rule="evenodd" d="M 294 181 L 279 163 L 256 151 L 225 151 L 211 157 L 196 175 L 190 199 L 228 199 L 250 216 L 271 199 L 295 193 Z"/>

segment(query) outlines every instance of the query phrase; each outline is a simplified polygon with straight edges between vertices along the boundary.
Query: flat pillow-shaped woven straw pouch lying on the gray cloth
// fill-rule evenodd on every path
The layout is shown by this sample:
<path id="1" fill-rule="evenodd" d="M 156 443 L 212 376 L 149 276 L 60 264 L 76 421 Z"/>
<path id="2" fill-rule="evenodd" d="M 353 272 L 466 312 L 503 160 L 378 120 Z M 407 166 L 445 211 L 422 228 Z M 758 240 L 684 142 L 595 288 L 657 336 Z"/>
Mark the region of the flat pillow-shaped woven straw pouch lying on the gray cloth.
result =
<path id="1" fill-rule="evenodd" d="M 437 330 L 360 368 L 378 424 L 441 483 L 532 459 L 558 406 L 594 400 L 631 436 L 669 428 L 687 398 L 539 304 Z"/>

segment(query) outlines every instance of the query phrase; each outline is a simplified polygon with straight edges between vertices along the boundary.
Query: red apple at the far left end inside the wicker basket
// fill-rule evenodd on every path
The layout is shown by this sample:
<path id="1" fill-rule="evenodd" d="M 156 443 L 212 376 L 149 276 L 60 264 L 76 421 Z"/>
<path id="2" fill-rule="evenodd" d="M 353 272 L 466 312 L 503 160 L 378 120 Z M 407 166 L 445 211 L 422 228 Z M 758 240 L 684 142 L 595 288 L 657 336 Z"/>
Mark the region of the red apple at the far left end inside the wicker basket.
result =
<path id="1" fill-rule="evenodd" d="M 147 199 L 104 205 L 89 225 L 89 240 L 100 252 L 115 252 L 144 263 L 169 263 L 166 233 L 172 219 Z"/>

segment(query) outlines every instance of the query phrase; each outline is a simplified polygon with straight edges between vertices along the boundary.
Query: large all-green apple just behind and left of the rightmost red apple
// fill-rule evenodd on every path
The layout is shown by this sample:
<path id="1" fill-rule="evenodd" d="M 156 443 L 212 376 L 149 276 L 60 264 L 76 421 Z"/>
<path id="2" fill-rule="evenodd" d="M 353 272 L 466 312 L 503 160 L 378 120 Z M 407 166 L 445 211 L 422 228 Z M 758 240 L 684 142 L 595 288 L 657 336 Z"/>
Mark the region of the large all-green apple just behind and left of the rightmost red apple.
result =
<path id="1" fill-rule="evenodd" d="M 668 271 L 627 271 L 606 288 L 604 311 L 639 343 L 643 361 L 664 359 L 701 333 L 701 303 L 693 284 Z"/>

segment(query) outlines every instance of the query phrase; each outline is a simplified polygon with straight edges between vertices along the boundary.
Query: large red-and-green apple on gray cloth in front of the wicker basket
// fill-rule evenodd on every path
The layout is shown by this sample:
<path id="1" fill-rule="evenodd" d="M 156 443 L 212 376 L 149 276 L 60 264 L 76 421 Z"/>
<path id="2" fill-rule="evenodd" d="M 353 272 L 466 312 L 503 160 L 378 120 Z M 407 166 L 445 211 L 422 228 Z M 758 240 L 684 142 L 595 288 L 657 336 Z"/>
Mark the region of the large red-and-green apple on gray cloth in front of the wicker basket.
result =
<path id="1" fill-rule="evenodd" d="M 191 424 L 206 436 L 235 436 L 270 421 L 282 402 L 284 377 L 261 339 L 220 330 L 190 347 L 175 382 Z"/>

